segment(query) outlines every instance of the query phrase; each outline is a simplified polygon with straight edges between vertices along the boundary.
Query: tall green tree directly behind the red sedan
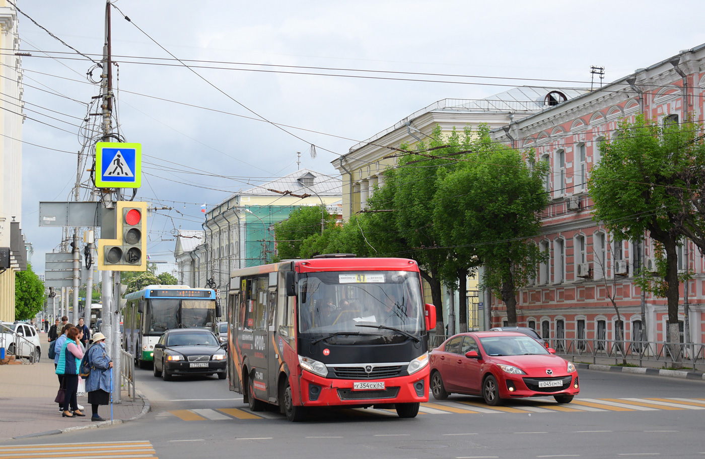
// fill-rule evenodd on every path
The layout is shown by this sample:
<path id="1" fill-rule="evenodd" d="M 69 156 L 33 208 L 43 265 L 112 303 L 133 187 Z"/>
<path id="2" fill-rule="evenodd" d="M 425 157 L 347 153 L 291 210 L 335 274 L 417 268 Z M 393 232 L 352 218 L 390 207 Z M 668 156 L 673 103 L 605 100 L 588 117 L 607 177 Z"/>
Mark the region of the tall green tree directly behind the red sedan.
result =
<path id="1" fill-rule="evenodd" d="M 529 168 L 518 151 L 491 141 L 481 127 L 470 142 L 472 155 L 443 177 L 434 196 L 434 224 L 455 258 L 456 269 L 484 265 L 483 282 L 502 298 L 509 325 L 517 323 L 517 289 L 534 275 L 541 253 L 529 238 L 539 234 L 539 215 L 548 204 L 546 165 Z M 461 303 L 462 304 L 462 303 Z"/>

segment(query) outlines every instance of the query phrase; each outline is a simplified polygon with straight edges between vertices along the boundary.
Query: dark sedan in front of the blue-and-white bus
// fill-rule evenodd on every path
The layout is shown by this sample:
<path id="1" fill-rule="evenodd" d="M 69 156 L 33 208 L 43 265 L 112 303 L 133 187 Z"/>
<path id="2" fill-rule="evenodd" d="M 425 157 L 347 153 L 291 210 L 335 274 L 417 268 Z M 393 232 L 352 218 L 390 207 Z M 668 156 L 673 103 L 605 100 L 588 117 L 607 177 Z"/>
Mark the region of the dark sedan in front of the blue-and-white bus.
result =
<path id="1" fill-rule="evenodd" d="M 202 328 L 167 330 L 154 345 L 154 376 L 164 381 L 173 375 L 227 376 L 227 354 L 216 336 Z"/>

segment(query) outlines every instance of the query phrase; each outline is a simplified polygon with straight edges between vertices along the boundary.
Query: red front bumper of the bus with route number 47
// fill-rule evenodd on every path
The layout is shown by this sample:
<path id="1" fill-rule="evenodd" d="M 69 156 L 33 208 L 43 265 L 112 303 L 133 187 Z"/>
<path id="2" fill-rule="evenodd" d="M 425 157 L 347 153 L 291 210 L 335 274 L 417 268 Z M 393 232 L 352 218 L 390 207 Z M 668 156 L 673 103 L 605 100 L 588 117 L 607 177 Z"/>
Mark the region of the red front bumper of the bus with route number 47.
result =
<path id="1" fill-rule="evenodd" d="M 429 401 L 429 365 L 413 375 L 386 379 L 329 379 L 302 370 L 300 404 L 304 406 L 383 405 Z M 384 382 L 384 389 L 355 389 L 355 382 Z"/>

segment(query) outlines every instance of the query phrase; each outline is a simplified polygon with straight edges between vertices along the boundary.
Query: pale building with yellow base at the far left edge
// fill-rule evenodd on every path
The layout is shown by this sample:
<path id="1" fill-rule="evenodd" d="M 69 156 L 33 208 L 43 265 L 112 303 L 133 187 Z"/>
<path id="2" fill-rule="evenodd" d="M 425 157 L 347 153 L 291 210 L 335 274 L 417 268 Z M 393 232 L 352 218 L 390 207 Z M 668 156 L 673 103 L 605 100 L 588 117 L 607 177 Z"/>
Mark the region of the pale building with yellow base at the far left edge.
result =
<path id="1" fill-rule="evenodd" d="M 15 273 L 27 267 L 22 221 L 22 68 L 17 11 L 0 0 L 0 320 L 15 320 Z"/>

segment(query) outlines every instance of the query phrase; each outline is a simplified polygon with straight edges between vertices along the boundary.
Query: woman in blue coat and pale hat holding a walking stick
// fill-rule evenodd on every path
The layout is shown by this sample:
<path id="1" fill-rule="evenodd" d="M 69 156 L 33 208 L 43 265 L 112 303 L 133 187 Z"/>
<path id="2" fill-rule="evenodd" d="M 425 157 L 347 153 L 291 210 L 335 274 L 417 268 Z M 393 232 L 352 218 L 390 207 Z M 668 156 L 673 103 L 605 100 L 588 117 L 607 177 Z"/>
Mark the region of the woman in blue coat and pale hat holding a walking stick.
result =
<path id="1" fill-rule="evenodd" d="M 113 361 L 105 348 L 105 337 L 101 332 L 93 335 L 93 344 L 88 348 L 85 358 L 81 362 L 81 376 L 87 375 L 86 391 L 88 403 L 91 405 L 91 420 L 104 421 L 98 415 L 99 405 L 110 403 L 110 369 Z"/>

